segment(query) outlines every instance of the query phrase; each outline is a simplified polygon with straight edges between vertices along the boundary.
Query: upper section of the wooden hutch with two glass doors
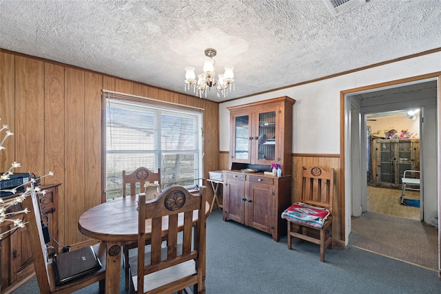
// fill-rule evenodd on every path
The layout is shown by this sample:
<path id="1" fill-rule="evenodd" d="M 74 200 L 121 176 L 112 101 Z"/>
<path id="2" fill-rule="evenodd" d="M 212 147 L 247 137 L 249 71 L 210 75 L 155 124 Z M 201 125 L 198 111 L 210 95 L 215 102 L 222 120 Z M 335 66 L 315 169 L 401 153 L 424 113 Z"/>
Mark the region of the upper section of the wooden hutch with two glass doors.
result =
<path id="1" fill-rule="evenodd" d="M 283 96 L 228 107 L 232 134 L 229 147 L 230 168 L 233 167 L 233 163 L 278 163 L 282 168 L 282 174 L 291 174 L 294 102 L 294 99 Z"/>

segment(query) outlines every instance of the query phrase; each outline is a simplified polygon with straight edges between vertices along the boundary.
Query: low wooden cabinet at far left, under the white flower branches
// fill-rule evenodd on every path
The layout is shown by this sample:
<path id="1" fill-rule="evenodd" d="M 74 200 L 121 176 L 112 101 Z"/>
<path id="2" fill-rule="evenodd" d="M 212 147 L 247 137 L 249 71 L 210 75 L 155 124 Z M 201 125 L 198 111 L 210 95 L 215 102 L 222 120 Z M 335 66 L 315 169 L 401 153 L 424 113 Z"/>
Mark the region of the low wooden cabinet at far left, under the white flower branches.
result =
<path id="1" fill-rule="evenodd" d="M 40 196 L 43 222 L 48 222 L 48 216 L 49 233 L 55 240 L 58 240 L 57 202 L 59 185 L 60 184 L 54 184 L 41 187 L 46 193 L 45 196 Z M 14 198 L 15 196 L 5 196 L 3 200 Z M 21 210 L 21 204 L 15 205 L 14 210 Z M 16 215 L 14 218 L 20 218 L 20 216 Z M 12 224 L 8 224 L 5 227 L 2 226 L 1 230 L 8 231 L 10 227 L 12 227 Z M 0 293 L 2 294 L 11 293 L 34 275 L 32 253 L 30 252 L 27 240 L 25 229 L 17 229 L 11 235 L 4 236 L 0 242 Z M 49 244 L 54 247 L 54 251 L 58 252 L 56 242 L 51 240 Z"/>

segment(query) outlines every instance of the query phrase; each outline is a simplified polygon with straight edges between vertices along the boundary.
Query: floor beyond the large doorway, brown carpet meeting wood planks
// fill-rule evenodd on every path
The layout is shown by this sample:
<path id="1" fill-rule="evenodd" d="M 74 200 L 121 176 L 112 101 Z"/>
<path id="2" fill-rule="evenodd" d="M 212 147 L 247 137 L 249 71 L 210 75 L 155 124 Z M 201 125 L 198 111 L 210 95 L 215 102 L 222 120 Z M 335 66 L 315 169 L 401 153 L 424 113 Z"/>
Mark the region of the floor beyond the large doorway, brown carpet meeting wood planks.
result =
<path id="1" fill-rule="evenodd" d="M 438 229 L 420 221 L 420 209 L 400 204 L 399 189 L 367 187 L 368 212 L 351 218 L 349 244 L 427 269 L 438 269 Z M 406 191 L 406 198 L 420 193 Z"/>

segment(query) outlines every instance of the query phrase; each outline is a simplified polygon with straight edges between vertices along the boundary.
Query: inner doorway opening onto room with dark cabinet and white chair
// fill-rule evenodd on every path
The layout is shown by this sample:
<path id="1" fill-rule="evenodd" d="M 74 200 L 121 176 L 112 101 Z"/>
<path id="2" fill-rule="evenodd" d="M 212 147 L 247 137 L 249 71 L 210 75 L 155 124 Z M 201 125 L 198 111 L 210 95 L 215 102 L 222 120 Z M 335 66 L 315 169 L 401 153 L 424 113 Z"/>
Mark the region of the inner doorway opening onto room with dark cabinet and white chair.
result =
<path id="1" fill-rule="evenodd" d="M 420 187 L 408 185 L 401 200 L 404 171 L 420 178 L 420 118 L 419 108 L 365 114 L 367 211 L 422 219 Z"/>

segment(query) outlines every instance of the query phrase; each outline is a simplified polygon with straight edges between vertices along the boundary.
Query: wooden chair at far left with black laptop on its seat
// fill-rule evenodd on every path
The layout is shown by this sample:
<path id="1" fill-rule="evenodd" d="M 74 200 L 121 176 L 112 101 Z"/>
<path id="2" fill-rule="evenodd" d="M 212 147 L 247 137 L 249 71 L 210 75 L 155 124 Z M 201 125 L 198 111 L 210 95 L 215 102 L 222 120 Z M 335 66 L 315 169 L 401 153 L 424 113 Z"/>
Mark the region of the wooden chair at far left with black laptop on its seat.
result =
<path id="1" fill-rule="evenodd" d="M 43 229 L 41 227 L 39 198 L 35 193 L 32 193 L 23 200 L 22 206 L 29 210 L 29 212 L 24 215 L 24 221 L 26 222 L 25 230 L 28 233 L 28 243 L 32 252 L 40 293 L 72 293 L 73 291 L 96 282 L 99 282 L 99 291 L 103 293 L 105 290 L 105 246 L 101 246 L 101 243 L 93 246 L 103 266 L 101 269 L 66 284 L 56 285 L 54 263 L 52 262 L 52 258 L 48 257 L 48 249 L 46 249 Z M 88 243 L 88 245 L 90 245 L 90 243 Z M 78 246 L 72 246 L 71 250 L 79 248 Z"/>

